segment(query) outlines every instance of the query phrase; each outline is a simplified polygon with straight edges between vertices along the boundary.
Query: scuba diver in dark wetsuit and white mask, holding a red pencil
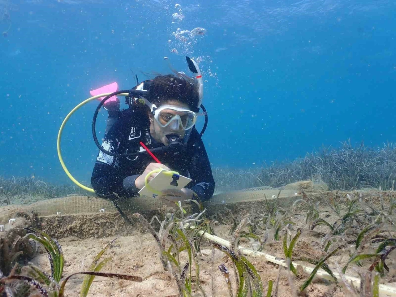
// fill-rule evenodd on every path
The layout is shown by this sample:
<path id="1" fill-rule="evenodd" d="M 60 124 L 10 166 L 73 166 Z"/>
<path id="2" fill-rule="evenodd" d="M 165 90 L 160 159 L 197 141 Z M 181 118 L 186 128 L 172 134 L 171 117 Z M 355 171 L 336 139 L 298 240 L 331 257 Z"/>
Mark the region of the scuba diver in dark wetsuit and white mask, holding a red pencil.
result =
<path id="1" fill-rule="evenodd" d="M 201 139 L 207 124 L 201 105 L 202 75 L 196 63 L 186 58 L 190 70 L 197 74 L 194 78 L 175 72 L 137 82 L 132 90 L 144 95 L 126 96 L 128 109 L 119 110 L 120 100 L 115 95 L 99 98 L 108 111 L 105 136 L 91 177 L 99 197 L 113 202 L 133 199 L 145 186 L 147 174 L 158 168 L 191 179 L 181 190 L 165 190 L 157 196 L 169 206 L 184 200 L 205 201 L 213 195 L 215 182 Z M 117 88 L 113 83 L 91 91 L 91 95 L 114 93 Z M 198 113 L 200 107 L 203 114 Z M 195 124 L 201 115 L 205 115 L 206 124 L 198 133 Z M 148 181 L 156 174 L 151 173 Z"/>

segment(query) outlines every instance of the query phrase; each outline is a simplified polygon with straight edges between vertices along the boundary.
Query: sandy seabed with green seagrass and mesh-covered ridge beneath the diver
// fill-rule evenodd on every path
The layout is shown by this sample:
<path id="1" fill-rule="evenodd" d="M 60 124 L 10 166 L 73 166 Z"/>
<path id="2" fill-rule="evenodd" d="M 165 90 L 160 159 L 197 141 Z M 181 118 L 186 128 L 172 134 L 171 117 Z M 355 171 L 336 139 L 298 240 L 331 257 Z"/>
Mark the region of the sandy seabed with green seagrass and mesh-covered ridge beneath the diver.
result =
<path id="1" fill-rule="evenodd" d="M 214 169 L 211 202 L 184 213 L 136 200 L 122 205 L 131 224 L 73 188 L 44 198 L 49 183 L 2 179 L 22 203 L 0 208 L 0 293 L 395 296 L 394 160 L 391 145 L 346 143 L 251 170 L 254 183 Z"/>

